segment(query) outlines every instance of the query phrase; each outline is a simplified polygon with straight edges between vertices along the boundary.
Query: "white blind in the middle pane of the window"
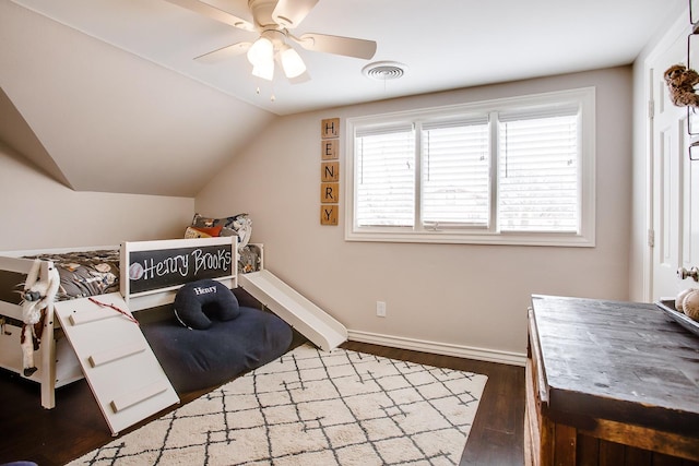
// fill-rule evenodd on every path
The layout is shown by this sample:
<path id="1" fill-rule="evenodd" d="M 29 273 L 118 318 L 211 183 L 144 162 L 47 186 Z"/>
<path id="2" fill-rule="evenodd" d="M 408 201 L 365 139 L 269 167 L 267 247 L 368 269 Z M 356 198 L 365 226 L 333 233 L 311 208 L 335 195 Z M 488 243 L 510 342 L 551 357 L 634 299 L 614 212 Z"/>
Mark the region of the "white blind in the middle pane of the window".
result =
<path id="1" fill-rule="evenodd" d="M 422 218 L 434 228 L 489 223 L 487 119 L 424 124 Z"/>

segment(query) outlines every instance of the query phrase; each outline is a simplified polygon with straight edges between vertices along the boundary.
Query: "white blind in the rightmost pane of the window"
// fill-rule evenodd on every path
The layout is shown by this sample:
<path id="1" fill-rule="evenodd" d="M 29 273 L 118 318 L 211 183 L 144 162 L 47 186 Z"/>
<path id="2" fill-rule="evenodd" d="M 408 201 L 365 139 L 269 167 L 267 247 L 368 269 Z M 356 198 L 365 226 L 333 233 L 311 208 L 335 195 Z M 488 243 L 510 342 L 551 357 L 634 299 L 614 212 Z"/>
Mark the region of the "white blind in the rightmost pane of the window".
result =
<path id="1" fill-rule="evenodd" d="M 500 231 L 577 232 L 578 116 L 499 123 Z"/>

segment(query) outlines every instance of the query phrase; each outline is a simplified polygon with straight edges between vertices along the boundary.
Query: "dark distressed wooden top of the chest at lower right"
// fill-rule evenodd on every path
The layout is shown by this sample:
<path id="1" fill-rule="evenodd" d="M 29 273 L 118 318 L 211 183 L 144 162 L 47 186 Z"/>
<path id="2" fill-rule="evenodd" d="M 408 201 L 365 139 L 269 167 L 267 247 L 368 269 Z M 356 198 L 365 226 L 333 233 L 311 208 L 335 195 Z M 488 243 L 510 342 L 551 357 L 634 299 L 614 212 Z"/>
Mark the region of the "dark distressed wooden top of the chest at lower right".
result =
<path id="1" fill-rule="evenodd" d="M 699 438 L 699 336 L 657 306 L 532 296 L 548 415 Z"/>

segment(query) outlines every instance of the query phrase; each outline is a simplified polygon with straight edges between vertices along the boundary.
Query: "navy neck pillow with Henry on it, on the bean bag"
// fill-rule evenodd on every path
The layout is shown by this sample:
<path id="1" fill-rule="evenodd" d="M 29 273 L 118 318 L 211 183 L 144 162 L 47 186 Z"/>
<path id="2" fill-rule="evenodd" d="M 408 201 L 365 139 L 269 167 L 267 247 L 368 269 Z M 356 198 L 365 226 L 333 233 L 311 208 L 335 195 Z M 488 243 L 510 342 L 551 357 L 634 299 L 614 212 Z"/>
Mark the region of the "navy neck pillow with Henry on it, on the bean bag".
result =
<path id="1" fill-rule="evenodd" d="M 175 316 L 188 328 L 206 330 L 211 319 L 230 321 L 240 315 L 233 291 L 214 279 L 201 279 L 182 286 L 175 296 Z"/>

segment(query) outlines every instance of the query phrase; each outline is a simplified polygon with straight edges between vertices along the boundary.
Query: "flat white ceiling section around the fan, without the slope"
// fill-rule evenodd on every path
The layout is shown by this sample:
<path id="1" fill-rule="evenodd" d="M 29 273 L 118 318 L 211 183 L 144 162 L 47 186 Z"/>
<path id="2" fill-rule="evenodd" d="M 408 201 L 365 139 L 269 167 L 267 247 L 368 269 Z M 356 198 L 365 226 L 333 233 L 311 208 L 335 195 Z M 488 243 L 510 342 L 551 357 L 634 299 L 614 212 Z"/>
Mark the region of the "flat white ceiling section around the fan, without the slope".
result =
<path id="1" fill-rule="evenodd" d="M 13 1 L 276 115 L 630 63 L 662 21 L 686 5 L 686 0 L 320 0 L 296 35 L 371 39 L 377 53 L 366 61 L 299 48 L 312 79 L 292 85 L 279 72 L 273 84 L 253 79 L 245 56 L 217 64 L 193 61 L 256 34 L 165 0 Z M 208 2 L 251 21 L 247 0 Z M 365 65 L 386 60 L 405 64 L 405 75 L 386 82 L 363 75 Z"/>

